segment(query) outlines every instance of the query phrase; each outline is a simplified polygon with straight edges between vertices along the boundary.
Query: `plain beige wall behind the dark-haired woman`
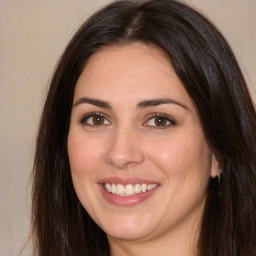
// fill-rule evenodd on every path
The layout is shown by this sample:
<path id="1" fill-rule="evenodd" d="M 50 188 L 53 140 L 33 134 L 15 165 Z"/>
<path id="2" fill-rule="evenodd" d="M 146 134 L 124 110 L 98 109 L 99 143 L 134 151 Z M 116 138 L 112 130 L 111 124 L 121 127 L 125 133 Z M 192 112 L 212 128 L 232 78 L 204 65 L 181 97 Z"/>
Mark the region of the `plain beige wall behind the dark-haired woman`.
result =
<path id="1" fill-rule="evenodd" d="M 0 0 L 0 256 L 29 234 L 33 148 L 44 92 L 79 24 L 107 0 Z M 187 0 L 229 40 L 256 98 L 256 0 Z"/>

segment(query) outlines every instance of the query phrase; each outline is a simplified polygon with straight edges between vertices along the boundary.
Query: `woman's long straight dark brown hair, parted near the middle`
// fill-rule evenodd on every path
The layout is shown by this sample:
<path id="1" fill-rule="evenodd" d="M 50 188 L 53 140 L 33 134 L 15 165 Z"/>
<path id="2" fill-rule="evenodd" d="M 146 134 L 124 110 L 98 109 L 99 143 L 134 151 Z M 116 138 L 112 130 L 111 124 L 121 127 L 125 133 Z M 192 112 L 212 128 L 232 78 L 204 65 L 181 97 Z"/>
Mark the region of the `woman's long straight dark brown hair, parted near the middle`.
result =
<path id="1" fill-rule="evenodd" d="M 172 0 L 110 4 L 81 26 L 64 51 L 37 137 L 32 199 L 35 255 L 109 255 L 105 233 L 74 191 L 67 136 L 76 82 L 90 56 L 104 46 L 134 41 L 155 45 L 170 57 L 222 169 L 220 183 L 209 180 L 198 255 L 255 256 L 255 109 L 223 36 L 204 16 Z"/>

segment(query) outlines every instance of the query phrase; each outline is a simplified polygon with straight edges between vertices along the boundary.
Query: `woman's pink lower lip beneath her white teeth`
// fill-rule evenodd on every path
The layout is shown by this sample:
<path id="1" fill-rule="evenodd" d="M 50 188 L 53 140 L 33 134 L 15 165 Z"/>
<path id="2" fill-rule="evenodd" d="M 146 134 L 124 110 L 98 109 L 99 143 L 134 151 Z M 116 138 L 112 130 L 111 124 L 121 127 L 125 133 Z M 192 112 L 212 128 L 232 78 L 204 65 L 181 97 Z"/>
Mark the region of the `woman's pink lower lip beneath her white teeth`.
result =
<path id="1" fill-rule="evenodd" d="M 112 193 L 108 192 L 104 187 L 103 184 L 99 184 L 101 192 L 103 194 L 103 197 L 105 200 L 107 200 L 109 203 L 117 205 L 117 206 L 133 206 L 136 204 L 139 204 L 141 202 L 144 202 L 147 200 L 150 196 L 153 195 L 153 193 L 157 190 L 158 187 L 149 190 L 144 193 L 138 193 L 132 196 L 118 196 L 113 195 Z"/>

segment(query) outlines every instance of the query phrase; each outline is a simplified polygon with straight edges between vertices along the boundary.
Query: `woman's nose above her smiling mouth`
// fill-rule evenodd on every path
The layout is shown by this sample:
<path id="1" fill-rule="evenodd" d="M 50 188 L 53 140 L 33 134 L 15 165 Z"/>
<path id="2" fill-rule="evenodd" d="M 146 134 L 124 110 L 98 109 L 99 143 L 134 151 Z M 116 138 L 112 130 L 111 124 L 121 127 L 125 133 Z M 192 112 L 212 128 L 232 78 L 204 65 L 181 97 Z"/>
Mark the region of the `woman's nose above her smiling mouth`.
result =
<path id="1" fill-rule="evenodd" d="M 106 161 L 118 169 L 135 166 L 144 161 L 142 140 L 132 127 L 116 128 L 112 132 L 108 144 Z"/>

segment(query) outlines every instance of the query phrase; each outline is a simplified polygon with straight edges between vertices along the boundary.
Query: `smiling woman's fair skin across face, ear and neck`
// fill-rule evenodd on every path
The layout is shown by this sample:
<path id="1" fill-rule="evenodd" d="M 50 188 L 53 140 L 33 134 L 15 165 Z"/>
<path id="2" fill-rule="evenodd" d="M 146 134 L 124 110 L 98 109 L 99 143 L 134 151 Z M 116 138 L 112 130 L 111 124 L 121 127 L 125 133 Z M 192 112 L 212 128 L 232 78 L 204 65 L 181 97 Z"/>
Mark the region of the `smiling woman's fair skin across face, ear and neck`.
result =
<path id="1" fill-rule="evenodd" d="M 140 106 L 166 98 L 173 102 Z M 103 116 L 101 124 L 86 118 L 92 112 Z M 132 43 L 90 58 L 75 89 L 68 153 L 76 193 L 106 232 L 111 255 L 195 255 L 207 184 L 218 163 L 162 51 Z M 99 181 L 108 177 L 146 179 L 158 188 L 143 202 L 118 206 L 102 195 Z"/>

